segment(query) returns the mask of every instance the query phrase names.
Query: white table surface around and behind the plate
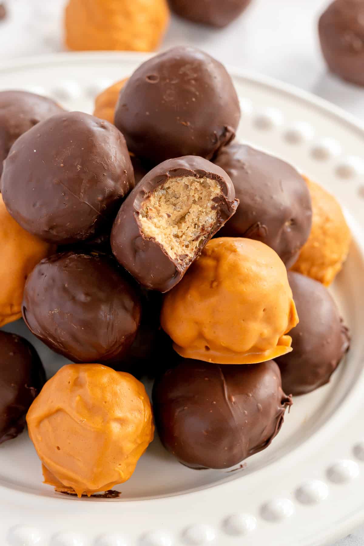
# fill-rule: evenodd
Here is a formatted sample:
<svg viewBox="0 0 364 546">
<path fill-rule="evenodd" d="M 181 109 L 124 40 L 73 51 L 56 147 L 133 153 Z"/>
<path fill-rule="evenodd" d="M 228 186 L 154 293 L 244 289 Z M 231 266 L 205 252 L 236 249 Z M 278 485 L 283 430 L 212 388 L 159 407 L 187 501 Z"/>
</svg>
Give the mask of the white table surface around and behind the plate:
<svg viewBox="0 0 364 546">
<path fill-rule="evenodd" d="M 321 58 L 317 20 L 327 3 L 328 0 L 252 0 L 243 15 L 222 30 L 172 17 L 161 49 L 195 45 L 225 64 L 273 76 L 316 93 L 364 122 L 364 88 L 345 84 L 327 73 Z M 65 0 L 5 0 L 5 4 L 8 16 L 0 21 L 0 63 L 64 50 Z M 363 544 L 364 527 L 335 546 Z"/>
</svg>

